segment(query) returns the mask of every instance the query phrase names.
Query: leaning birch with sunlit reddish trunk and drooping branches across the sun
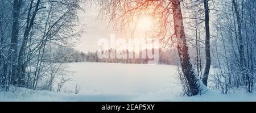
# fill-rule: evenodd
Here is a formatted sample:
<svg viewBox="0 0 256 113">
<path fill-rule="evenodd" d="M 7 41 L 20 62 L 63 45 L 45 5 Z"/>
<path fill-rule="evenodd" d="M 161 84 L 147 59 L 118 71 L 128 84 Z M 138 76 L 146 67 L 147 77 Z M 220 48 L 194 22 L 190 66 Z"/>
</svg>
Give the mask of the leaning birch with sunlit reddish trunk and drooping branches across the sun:
<svg viewBox="0 0 256 113">
<path fill-rule="evenodd" d="M 150 15 L 158 23 L 158 30 L 152 32 L 158 40 L 168 42 L 176 40 L 176 47 L 180 58 L 181 70 L 189 86 L 189 95 L 197 95 L 204 87 L 195 73 L 188 54 L 188 45 L 183 26 L 183 16 L 179 0 L 172 1 L 98 1 L 102 15 L 109 15 L 112 22 L 117 23 L 118 29 L 131 25 L 144 15 Z M 171 16 L 172 15 L 172 16 Z M 173 20 L 173 21 L 172 21 Z M 172 23 L 173 22 L 173 23 Z M 171 33 L 174 28 L 174 34 Z M 176 37 L 176 38 L 174 38 Z"/>
</svg>

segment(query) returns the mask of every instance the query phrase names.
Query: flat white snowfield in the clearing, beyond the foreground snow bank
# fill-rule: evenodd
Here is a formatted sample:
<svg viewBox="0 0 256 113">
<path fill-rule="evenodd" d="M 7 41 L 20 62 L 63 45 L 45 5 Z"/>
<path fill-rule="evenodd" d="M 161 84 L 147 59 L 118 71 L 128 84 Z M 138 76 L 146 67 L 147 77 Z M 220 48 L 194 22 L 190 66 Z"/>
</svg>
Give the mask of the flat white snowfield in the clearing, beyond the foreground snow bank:
<svg viewBox="0 0 256 113">
<path fill-rule="evenodd" d="M 79 95 L 127 95 L 127 99 L 142 96 L 143 101 L 150 101 L 181 93 L 177 66 L 97 62 L 69 63 L 68 66 L 68 70 L 74 72 L 73 81 L 67 82 L 63 90 L 74 91 L 78 86 Z"/>
</svg>

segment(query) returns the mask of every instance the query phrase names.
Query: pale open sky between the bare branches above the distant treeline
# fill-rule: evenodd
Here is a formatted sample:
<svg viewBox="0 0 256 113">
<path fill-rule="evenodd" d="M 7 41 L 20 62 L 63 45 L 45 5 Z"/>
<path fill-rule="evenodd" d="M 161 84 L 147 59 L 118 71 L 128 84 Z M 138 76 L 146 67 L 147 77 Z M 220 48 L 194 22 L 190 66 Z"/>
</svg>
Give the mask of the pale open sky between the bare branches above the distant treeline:
<svg viewBox="0 0 256 113">
<path fill-rule="evenodd" d="M 85 32 L 81 34 L 80 41 L 77 43 L 75 47 L 75 49 L 77 49 L 78 51 L 87 53 L 88 51 L 96 52 L 97 50 L 100 50 L 103 47 L 98 45 L 98 42 L 101 41 L 101 39 L 106 39 L 109 42 L 108 47 L 104 48 L 104 46 L 104 49 L 109 49 L 109 47 L 119 50 L 139 50 L 145 48 L 152 48 L 151 45 L 148 43 L 147 45 L 145 45 L 146 42 L 144 41 L 145 39 L 150 39 L 148 41 L 151 41 L 151 38 L 149 38 L 148 33 L 150 33 L 150 31 L 153 30 L 152 25 L 154 24 L 155 21 L 152 20 L 150 16 L 144 15 L 142 16 L 142 18 L 134 20 L 134 22 L 136 22 L 137 24 L 137 27 L 134 31 L 133 39 L 131 39 L 131 29 L 133 30 L 134 27 L 125 26 L 125 31 L 116 31 L 114 29 L 114 23 L 109 23 L 110 21 L 107 17 L 97 18 L 98 11 L 96 9 L 96 6 L 85 6 L 84 8 L 84 11 L 80 11 L 78 14 L 80 24 L 86 26 L 84 28 Z M 115 35 L 114 47 L 112 47 L 113 41 L 110 39 L 110 37 L 113 34 Z M 125 43 L 118 43 L 120 41 L 119 39 L 125 40 L 129 43 L 126 43 L 127 46 L 125 45 Z"/>
</svg>

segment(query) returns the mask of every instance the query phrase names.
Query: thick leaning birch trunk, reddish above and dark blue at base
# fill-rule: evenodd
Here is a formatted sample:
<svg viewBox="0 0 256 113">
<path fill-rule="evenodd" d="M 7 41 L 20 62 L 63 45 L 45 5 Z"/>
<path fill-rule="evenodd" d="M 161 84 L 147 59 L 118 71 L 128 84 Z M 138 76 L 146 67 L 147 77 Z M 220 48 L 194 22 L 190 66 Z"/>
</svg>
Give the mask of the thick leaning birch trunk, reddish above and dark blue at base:
<svg viewBox="0 0 256 113">
<path fill-rule="evenodd" d="M 183 26 L 183 18 L 181 14 L 180 1 L 172 1 L 172 12 L 174 16 L 174 29 L 177 37 L 177 51 L 179 53 L 180 64 L 185 79 L 188 81 L 189 91 L 192 95 L 200 92 L 200 79 L 197 77 L 195 70 L 192 68 L 190 57 L 188 54 L 187 42 L 185 39 L 185 31 Z"/>
</svg>

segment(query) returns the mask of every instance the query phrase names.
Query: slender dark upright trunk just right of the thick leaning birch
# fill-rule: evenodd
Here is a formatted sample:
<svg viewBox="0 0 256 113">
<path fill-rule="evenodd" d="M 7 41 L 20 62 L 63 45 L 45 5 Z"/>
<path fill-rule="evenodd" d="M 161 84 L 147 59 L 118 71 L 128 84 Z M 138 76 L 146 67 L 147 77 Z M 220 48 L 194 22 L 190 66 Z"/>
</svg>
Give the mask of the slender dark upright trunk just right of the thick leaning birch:
<svg viewBox="0 0 256 113">
<path fill-rule="evenodd" d="M 209 71 L 210 71 L 210 28 L 209 28 L 209 7 L 208 0 L 204 0 L 205 13 L 205 68 L 202 81 L 207 86 Z"/>
</svg>

